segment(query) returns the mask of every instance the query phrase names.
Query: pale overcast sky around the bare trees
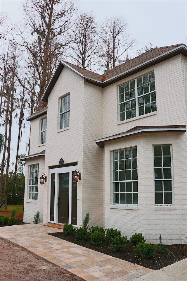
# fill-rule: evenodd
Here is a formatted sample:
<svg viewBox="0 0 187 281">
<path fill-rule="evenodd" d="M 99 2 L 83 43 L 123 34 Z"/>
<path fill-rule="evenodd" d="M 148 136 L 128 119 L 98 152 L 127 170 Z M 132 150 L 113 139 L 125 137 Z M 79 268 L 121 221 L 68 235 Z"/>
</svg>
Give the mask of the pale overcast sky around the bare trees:
<svg viewBox="0 0 187 281">
<path fill-rule="evenodd" d="M 22 20 L 22 0 L 1 0 L 1 13 L 8 13 L 13 23 Z M 136 39 L 136 49 L 145 45 L 147 41 L 153 46 L 162 47 L 184 43 L 187 45 L 187 1 L 108 1 L 81 0 L 76 1 L 79 10 L 93 11 L 98 22 L 104 21 L 106 16 L 124 16 L 128 23 L 128 33 Z M 130 54 L 130 53 L 129 53 Z M 28 126 L 29 128 L 29 126 Z M 23 130 L 23 137 L 19 153 L 26 153 L 25 141 L 29 139 L 29 129 Z M 11 148 L 16 150 L 16 126 L 11 141 Z M 11 151 L 11 162 L 15 161 L 15 153 Z"/>
</svg>

